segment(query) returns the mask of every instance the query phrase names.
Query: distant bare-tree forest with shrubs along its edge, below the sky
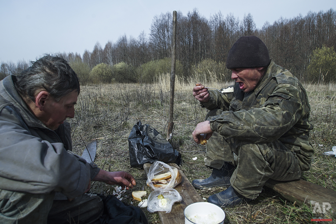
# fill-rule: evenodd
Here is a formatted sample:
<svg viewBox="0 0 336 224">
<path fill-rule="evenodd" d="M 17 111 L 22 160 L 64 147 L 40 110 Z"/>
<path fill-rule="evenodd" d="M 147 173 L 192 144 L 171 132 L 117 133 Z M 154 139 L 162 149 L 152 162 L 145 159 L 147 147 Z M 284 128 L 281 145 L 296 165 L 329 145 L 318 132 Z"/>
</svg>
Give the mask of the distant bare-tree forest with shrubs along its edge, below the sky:
<svg viewBox="0 0 336 224">
<path fill-rule="evenodd" d="M 194 9 L 177 12 L 176 75 L 187 79 L 195 73 L 229 79 L 225 61 L 230 47 L 241 36 L 259 37 L 276 64 L 289 69 L 303 81 L 336 81 L 336 12 L 334 9 L 308 12 L 294 18 L 280 17 L 257 29 L 252 15 L 240 20 L 234 14 L 218 12 L 209 19 Z M 172 13 L 154 16 L 150 34 L 137 38 L 120 36 L 92 51 L 58 53 L 74 68 L 81 83 L 152 82 L 170 72 Z M 0 78 L 16 74 L 30 62 L 2 62 Z"/>
</svg>

